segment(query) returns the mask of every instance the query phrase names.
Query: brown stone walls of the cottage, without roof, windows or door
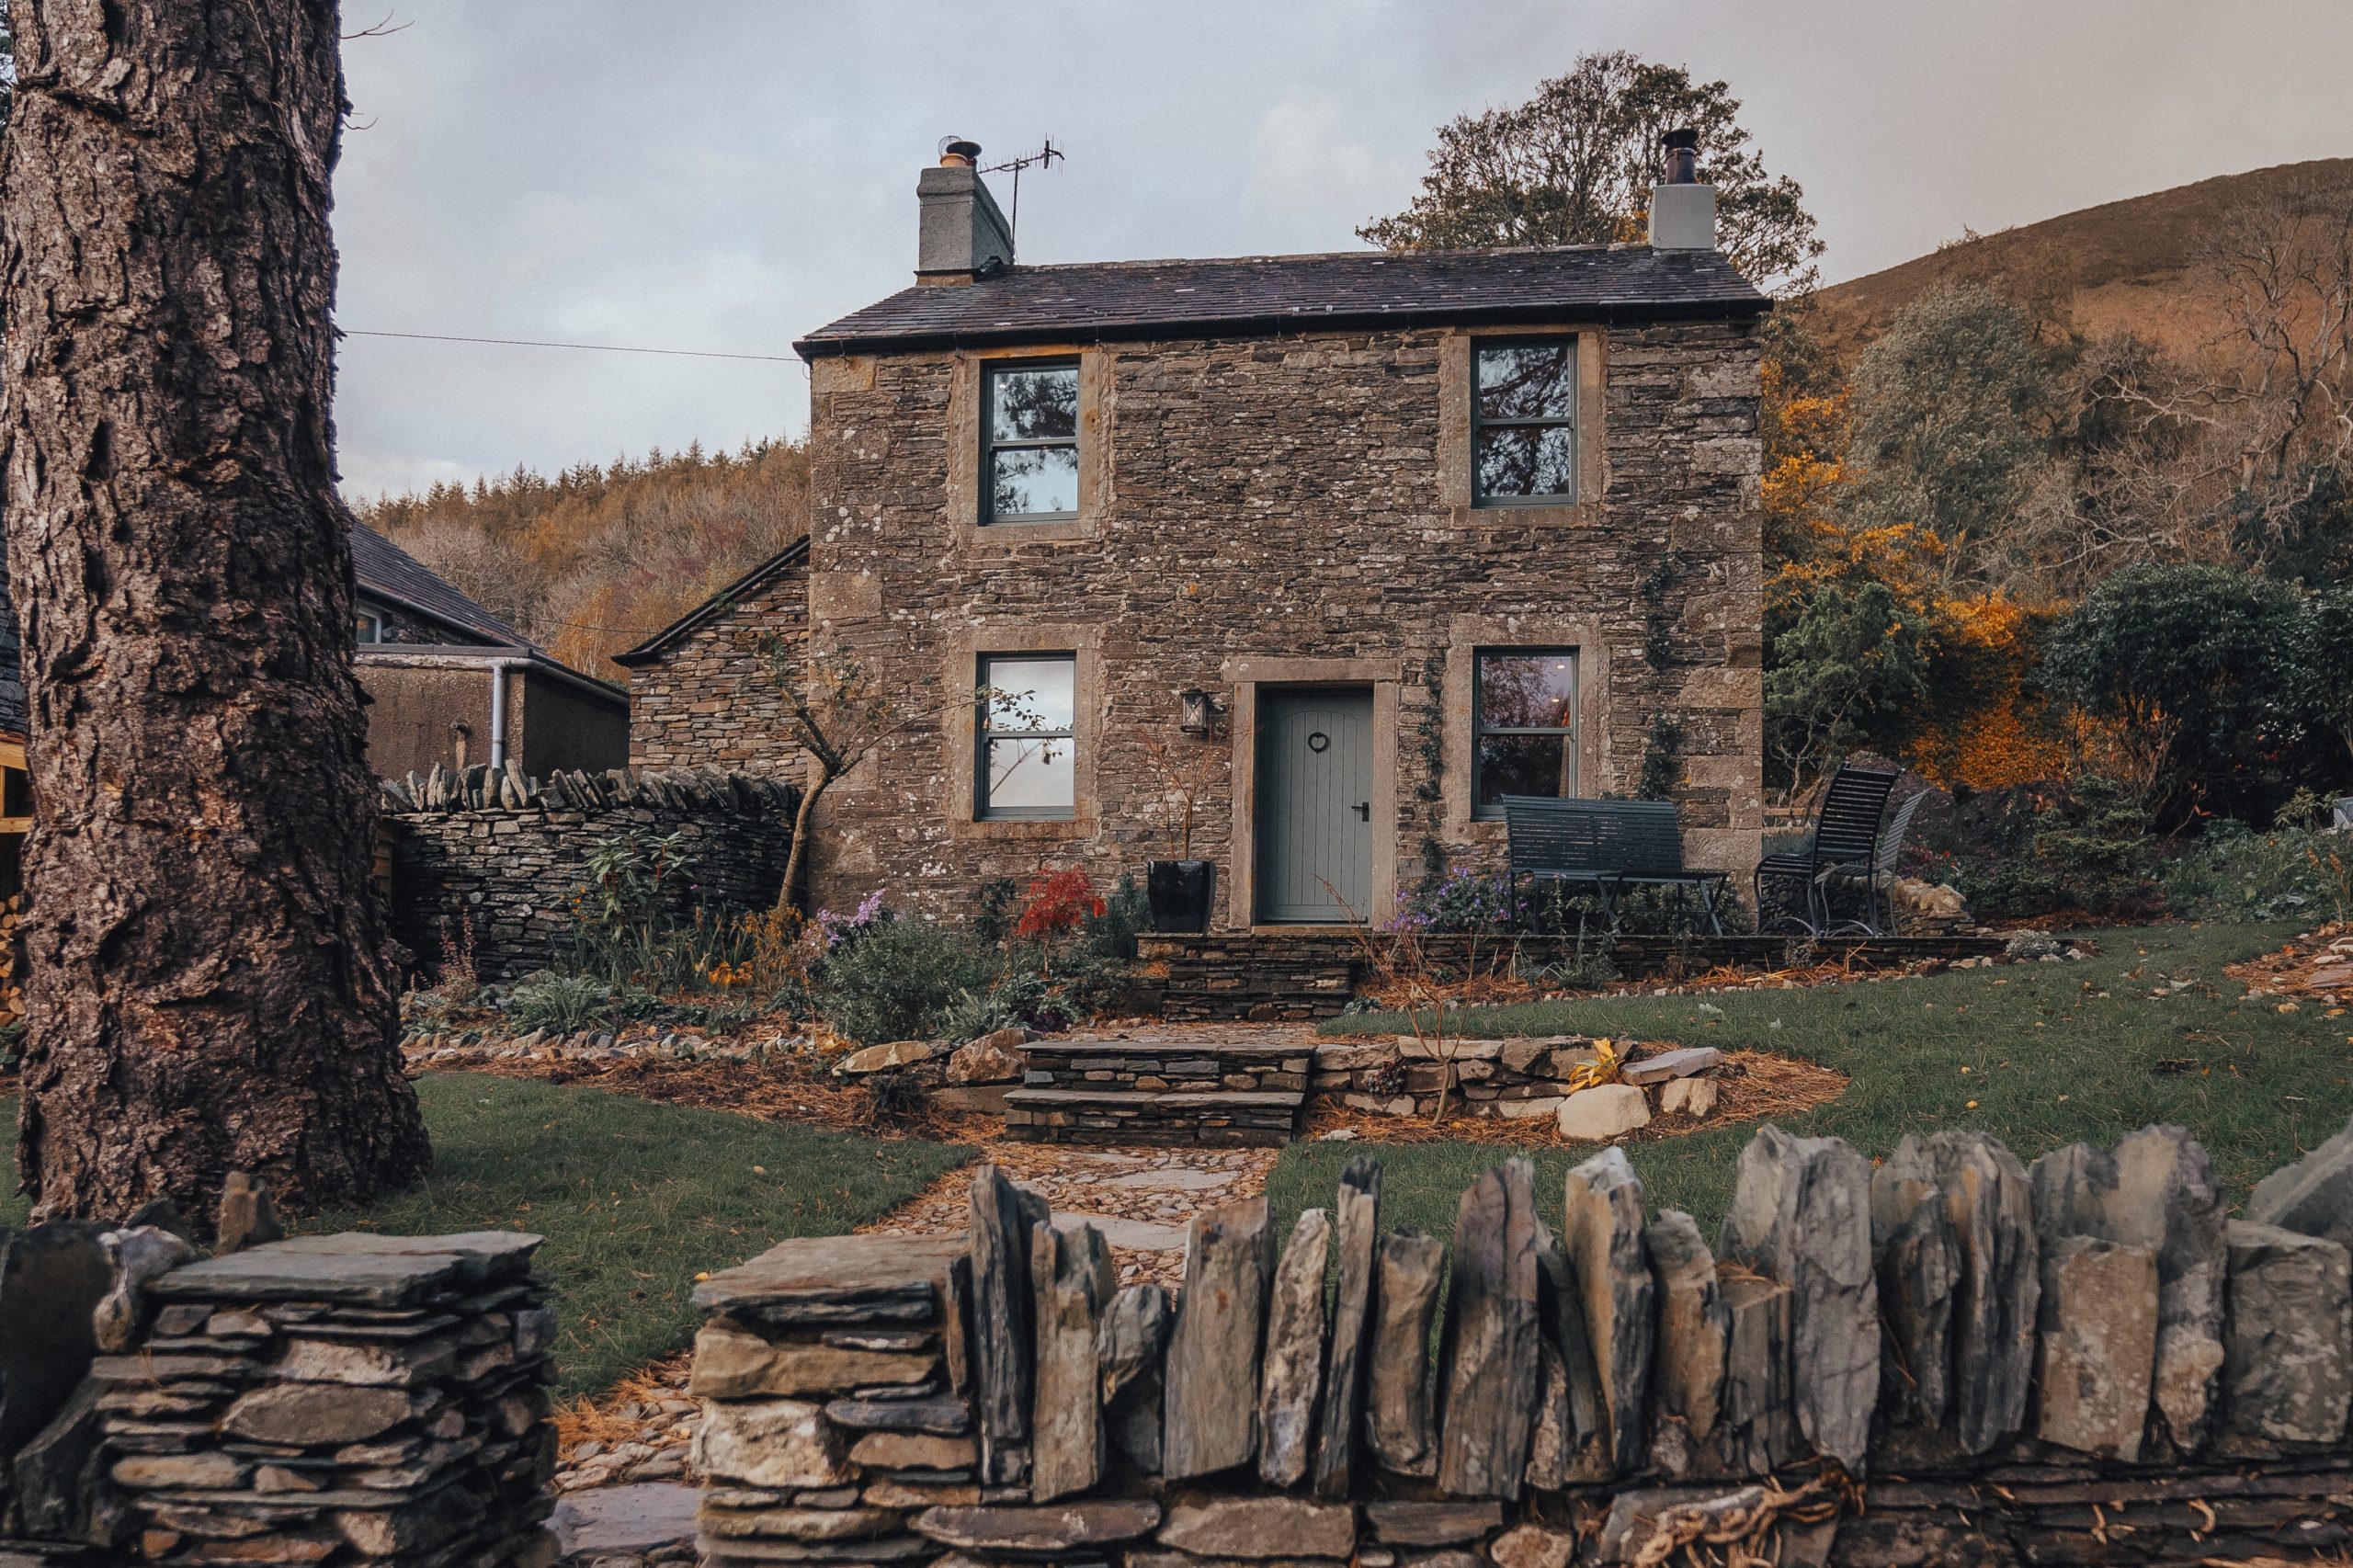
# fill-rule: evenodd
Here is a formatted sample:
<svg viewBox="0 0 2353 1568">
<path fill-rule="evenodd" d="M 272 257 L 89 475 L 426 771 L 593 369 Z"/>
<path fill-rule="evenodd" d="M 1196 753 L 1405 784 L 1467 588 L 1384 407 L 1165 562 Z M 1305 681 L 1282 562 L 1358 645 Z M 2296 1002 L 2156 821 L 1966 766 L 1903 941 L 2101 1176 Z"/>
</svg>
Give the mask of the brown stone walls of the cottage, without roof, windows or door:
<svg viewBox="0 0 2353 1568">
<path fill-rule="evenodd" d="M 1471 812 L 1475 650 L 1574 647 L 1581 793 L 1631 793 L 1675 732 L 1687 857 L 1746 873 L 1762 824 L 1758 339 L 1748 318 L 1574 332 L 1588 377 L 1574 506 L 1468 504 L 1452 327 L 812 363 L 807 596 L 788 577 L 638 659 L 635 756 L 798 765 L 748 638 L 969 690 L 981 655 L 1075 652 L 1068 819 L 976 819 L 972 713 L 915 723 L 819 805 L 812 890 L 969 913 L 995 878 L 1099 883 L 1169 855 L 1144 737 L 1212 746 L 1193 855 L 1252 925 L 1254 723 L 1280 685 L 1374 697 L 1372 909 L 1426 866 L 1499 864 Z M 1080 516 L 976 525 L 981 365 L 1080 360 Z M 1179 692 L 1212 692 L 1209 742 Z M 1741 876 L 1739 881 L 1746 881 Z"/>
</svg>

